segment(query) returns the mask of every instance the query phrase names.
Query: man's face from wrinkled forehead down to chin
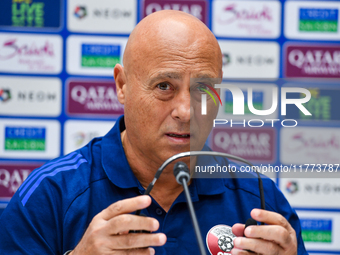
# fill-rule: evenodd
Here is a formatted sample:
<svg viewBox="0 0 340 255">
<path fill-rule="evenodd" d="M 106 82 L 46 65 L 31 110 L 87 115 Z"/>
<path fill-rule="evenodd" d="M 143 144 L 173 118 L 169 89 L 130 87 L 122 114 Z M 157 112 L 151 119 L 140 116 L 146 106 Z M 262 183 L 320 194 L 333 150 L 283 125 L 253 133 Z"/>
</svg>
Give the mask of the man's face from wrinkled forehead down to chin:
<svg viewBox="0 0 340 255">
<path fill-rule="evenodd" d="M 221 77 L 221 60 L 207 40 L 177 37 L 150 45 L 126 74 L 125 123 L 134 149 L 162 164 L 174 154 L 202 149 L 218 108 L 201 115 L 197 83 Z M 138 65 L 137 65 L 138 63 Z M 210 110 L 210 112 L 209 112 Z"/>
</svg>

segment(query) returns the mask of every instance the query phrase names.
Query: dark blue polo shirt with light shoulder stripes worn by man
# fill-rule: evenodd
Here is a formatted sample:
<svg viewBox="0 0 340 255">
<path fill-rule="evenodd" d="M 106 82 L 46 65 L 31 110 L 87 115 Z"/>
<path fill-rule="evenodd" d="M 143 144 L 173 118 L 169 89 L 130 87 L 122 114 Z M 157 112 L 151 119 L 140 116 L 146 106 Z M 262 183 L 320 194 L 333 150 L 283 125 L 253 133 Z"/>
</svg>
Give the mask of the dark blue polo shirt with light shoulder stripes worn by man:
<svg viewBox="0 0 340 255">
<path fill-rule="evenodd" d="M 122 147 L 124 129 L 120 117 L 104 137 L 30 174 L 1 215 L 0 254 L 63 254 L 74 249 L 96 214 L 118 200 L 144 193 Z M 298 254 L 307 254 L 295 211 L 270 179 L 264 178 L 263 184 L 266 209 L 290 222 Z M 203 240 L 212 227 L 245 223 L 250 211 L 260 207 L 256 178 L 193 179 L 189 190 Z M 200 254 L 183 193 L 167 213 L 155 200 L 142 212 L 156 218 L 158 232 L 167 236 L 164 246 L 155 247 L 157 255 Z"/>
</svg>

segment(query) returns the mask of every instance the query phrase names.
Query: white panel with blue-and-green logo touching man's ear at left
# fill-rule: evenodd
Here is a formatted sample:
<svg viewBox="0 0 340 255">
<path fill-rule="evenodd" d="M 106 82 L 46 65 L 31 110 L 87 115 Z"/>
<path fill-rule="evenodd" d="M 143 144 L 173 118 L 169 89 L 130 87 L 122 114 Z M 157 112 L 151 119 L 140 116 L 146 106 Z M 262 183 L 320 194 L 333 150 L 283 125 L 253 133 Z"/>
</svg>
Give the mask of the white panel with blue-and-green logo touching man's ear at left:
<svg viewBox="0 0 340 255">
<path fill-rule="evenodd" d="M 126 37 L 74 36 L 67 39 L 67 72 L 76 75 L 110 76 L 122 63 Z"/>
</svg>

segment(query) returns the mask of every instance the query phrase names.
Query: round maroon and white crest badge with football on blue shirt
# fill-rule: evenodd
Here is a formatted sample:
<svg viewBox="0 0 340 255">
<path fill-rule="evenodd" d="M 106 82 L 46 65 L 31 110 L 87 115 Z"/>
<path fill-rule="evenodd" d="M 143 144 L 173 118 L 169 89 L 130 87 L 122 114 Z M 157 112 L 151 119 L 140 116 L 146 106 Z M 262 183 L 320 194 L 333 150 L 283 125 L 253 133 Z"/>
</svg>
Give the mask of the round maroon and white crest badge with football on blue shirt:
<svg viewBox="0 0 340 255">
<path fill-rule="evenodd" d="M 216 225 L 207 233 L 206 243 L 211 255 L 227 255 L 234 248 L 236 236 L 227 225 Z"/>
</svg>

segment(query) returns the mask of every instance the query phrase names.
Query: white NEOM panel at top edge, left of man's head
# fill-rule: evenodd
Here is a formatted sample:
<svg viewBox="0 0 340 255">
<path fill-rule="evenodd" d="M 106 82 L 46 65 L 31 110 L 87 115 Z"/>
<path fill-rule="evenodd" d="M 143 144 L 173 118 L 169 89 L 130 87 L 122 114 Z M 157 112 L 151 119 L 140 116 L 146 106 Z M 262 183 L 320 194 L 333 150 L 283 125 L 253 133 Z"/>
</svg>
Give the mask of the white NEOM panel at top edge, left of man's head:
<svg viewBox="0 0 340 255">
<path fill-rule="evenodd" d="M 130 34 L 137 24 L 137 0 L 68 0 L 72 32 Z"/>
</svg>

